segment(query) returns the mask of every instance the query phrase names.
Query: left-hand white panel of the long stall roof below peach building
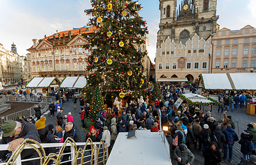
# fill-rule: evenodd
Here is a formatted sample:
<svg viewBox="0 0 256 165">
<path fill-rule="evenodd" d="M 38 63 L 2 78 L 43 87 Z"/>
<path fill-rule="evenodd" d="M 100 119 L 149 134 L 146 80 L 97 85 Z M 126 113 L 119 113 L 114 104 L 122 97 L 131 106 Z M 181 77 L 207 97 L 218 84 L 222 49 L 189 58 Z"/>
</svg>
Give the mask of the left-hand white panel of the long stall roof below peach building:
<svg viewBox="0 0 256 165">
<path fill-rule="evenodd" d="M 202 74 L 205 89 L 232 89 L 226 74 Z"/>
</svg>

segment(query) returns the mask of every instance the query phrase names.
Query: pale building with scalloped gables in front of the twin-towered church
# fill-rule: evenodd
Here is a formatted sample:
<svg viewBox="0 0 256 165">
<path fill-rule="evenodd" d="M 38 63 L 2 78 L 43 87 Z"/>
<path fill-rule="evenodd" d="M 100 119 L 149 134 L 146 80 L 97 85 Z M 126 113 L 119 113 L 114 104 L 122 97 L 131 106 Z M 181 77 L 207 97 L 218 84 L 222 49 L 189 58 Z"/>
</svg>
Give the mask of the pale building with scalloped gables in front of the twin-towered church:
<svg viewBox="0 0 256 165">
<path fill-rule="evenodd" d="M 167 39 L 156 50 L 156 80 L 171 82 L 186 78 L 194 82 L 200 74 L 209 73 L 211 51 L 211 41 L 200 39 L 198 35 L 185 45 Z"/>
</svg>

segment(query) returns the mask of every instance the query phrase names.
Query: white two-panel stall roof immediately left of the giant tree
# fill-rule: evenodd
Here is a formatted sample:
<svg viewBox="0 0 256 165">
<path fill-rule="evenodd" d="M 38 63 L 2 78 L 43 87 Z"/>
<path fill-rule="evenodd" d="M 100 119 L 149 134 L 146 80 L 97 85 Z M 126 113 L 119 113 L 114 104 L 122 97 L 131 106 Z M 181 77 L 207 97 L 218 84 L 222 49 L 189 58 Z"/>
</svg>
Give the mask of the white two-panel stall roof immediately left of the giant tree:
<svg viewBox="0 0 256 165">
<path fill-rule="evenodd" d="M 84 76 L 80 77 L 66 77 L 61 83 L 62 88 L 83 88 L 87 84 Z"/>
</svg>

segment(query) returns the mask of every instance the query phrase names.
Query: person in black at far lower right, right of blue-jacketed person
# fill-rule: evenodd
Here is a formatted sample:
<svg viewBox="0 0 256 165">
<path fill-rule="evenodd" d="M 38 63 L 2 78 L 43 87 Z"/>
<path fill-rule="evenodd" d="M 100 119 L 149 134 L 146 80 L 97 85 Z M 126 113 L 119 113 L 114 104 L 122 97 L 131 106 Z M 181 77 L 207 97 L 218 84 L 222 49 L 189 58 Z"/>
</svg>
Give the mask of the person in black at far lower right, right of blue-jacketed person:
<svg viewBox="0 0 256 165">
<path fill-rule="evenodd" d="M 243 153 L 244 159 L 249 159 L 250 155 L 252 155 L 252 151 L 249 150 L 249 144 L 253 140 L 253 135 L 250 135 L 250 132 L 244 130 L 241 133 L 241 139 L 238 141 L 241 144 L 241 152 Z"/>
</svg>

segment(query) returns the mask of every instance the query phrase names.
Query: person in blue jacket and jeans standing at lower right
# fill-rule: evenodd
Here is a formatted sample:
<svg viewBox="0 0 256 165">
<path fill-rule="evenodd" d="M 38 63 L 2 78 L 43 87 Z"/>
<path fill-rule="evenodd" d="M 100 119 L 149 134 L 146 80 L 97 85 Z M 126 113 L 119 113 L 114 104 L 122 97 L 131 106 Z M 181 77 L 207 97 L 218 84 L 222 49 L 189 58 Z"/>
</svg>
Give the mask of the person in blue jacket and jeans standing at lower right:
<svg viewBox="0 0 256 165">
<path fill-rule="evenodd" d="M 238 141 L 238 136 L 237 133 L 235 133 L 235 130 L 231 128 L 231 124 L 227 124 L 227 126 L 227 129 L 222 130 L 222 133 L 226 137 L 226 142 L 224 142 L 224 156 L 222 158 L 225 161 L 229 158 L 229 161 L 233 162 L 233 145 L 234 142 Z"/>
</svg>

